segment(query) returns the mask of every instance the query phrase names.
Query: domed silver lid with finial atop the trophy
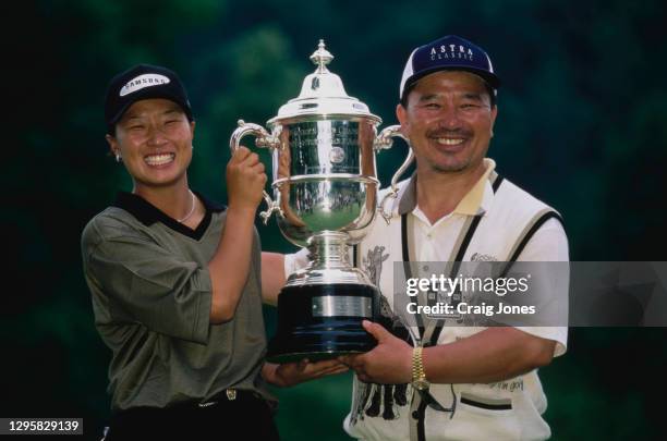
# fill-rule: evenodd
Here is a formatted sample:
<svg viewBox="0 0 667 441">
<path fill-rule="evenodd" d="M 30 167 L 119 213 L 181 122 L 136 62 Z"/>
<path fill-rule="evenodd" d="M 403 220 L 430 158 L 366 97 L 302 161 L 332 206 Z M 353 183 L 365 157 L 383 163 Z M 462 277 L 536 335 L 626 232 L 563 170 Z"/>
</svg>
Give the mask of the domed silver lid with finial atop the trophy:
<svg viewBox="0 0 667 441">
<path fill-rule="evenodd" d="M 272 125 L 281 120 L 295 117 L 365 117 L 381 122 L 379 117 L 368 111 L 368 106 L 354 97 L 348 96 L 340 77 L 327 69 L 333 56 L 325 49 L 324 40 L 311 56 L 317 69 L 307 75 L 301 86 L 301 94 L 280 107 L 278 115 L 268 121 Z"/>
</svg>

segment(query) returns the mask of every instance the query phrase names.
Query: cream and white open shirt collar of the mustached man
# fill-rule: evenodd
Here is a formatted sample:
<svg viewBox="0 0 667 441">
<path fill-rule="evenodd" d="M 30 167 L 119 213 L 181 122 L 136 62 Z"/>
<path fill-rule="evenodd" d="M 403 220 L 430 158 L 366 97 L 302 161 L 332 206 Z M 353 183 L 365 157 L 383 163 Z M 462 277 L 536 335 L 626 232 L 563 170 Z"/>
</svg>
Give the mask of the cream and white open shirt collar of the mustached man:
<svg viewBox="0 0 667 441">
<path fill-rule="evenodd" d="M 488 209 L 494 191 L 492 187 L 492 180 L 497 174 L 494 172 L 496 169 L 496 162 L 490 158 L 484 158 L 484 174 L 475 183 L 475 185 L 463 196 L 457 208 L 453 209 L 453 213 L 463 216 L 475 216 L 486 212 Z M 405 186 L 402 195 L 398 203 L 398 213 L 400 216 L 412 212 L 416 207 L 416 173 L 414 173 L 408 185 Z"/>
</svg>

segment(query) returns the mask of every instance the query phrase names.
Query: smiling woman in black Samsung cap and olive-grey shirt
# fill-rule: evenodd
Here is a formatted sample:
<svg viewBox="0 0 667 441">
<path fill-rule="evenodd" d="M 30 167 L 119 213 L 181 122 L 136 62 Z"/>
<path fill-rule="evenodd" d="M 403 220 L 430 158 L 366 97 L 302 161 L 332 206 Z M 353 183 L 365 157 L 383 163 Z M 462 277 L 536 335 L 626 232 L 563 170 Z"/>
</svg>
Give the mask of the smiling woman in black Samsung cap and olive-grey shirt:
<svg viewBox="0 0 667 441">
<path fill-rule="evenodd" d="M 191 191 L 193 112 L 161 66 L 114 76 L 105 115 L 133 183 L 82 236 L 95 322 L 113 352 L 107 439 L 278 439 L 265 380 L 290 385 L 342 369 L 264 363 L 254 229 L 264 166 L 246 148 L 232 156 L 227 209 Z"/>
</svg>

